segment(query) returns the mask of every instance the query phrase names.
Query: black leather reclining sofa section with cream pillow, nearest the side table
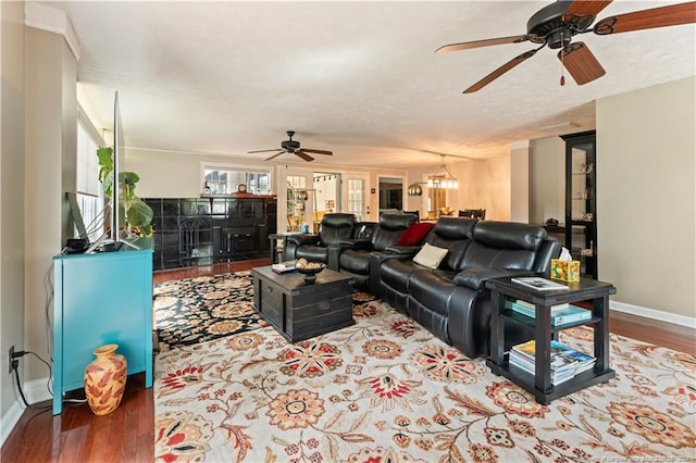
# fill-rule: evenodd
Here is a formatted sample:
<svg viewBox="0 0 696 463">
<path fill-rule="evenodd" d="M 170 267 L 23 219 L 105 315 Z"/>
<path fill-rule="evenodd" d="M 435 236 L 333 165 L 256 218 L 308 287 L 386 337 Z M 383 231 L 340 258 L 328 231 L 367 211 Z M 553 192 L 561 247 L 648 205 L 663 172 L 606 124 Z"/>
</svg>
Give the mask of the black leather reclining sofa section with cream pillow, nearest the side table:
<svg viewBox="0 0 696 463">
<path fill-rule="evenodd" d="M 485 281 L 546 273 L 560 243 L 540 226 L 440 217 L 424 242 L 447 249 L 437 268 L 413 262 L 403 249 L 387 249 L 380 265 L 380 296 L 470 358 L 489 352 L 490 293 Z M 529 339 L 506 326 L 506 342 Z"/>
</svg>

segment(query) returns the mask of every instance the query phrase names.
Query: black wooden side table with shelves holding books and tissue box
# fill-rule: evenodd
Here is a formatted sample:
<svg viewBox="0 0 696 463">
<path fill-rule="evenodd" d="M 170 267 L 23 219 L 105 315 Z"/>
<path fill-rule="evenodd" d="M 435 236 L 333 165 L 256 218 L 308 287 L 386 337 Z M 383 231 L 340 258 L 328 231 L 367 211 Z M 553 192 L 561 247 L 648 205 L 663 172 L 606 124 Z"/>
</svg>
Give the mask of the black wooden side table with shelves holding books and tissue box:
<svg viewBox="0 0 696 463">
<path fill-rule="evenodd" d="M 535 290 L 511 281 L 510 277 L 494 278 L 486 281 L 490 289 L 490 358 L 486 364 L 495 374 L 507 377 L 520 387 L 531 392 L 537 402 L 548 404 L 552 400 L 576 392 L 589 386 L 606 383 L 616 373 L 609 365 L 609 296 L 617 292 L 610 283 L 583 278 L 581 281 L 568 284 L 568 289 Z M 535 318 L 506 309 L 508 299 L 521 299 L 531 302 L 536 308 Z M 589 320 L 551 326 L 550 308 L 564 302 L 588 301 L 593 316 Z M 530 326 L 534 329 L 536 343 L 534 368 L 531 375 L 510 365 L 505 352 L 506 321 Z M 580 373 L 572 379 L 560 385 L 551 385 L 550 342 L 563 329 L 579 325 L 592 325 L 594 331 L 594 353 L 597 359 L 593 370 Z"/>
</svg>

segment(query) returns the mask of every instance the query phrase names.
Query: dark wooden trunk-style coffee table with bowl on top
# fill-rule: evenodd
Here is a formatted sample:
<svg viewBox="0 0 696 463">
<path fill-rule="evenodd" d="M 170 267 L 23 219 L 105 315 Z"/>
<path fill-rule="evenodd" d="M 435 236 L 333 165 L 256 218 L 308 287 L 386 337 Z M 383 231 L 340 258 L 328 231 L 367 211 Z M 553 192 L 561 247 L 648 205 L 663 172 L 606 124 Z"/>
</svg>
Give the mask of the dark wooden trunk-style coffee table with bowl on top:
<svg viewBox="0 0 696 463">
<path fill-rule="evenodd" d="M 290 342 L 356 323 L 350 276 L 324 268 L 307 283 L 296 271 L 276 274 L 270 265 L 252 268 L 251 276 L 253 308 Z"/>
</svg>

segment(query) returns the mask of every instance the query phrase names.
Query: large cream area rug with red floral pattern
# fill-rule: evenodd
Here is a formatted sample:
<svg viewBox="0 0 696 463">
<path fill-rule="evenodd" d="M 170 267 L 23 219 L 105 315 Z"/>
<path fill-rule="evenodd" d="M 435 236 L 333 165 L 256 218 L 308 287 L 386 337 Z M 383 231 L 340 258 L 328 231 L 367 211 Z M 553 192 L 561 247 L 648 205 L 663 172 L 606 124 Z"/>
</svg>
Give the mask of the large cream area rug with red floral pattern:
<svg viewBox="0 0 696 463">
<path fill-rule="evenodd" d="M 365 298 L 369 299 L 369 298 Z M 540 405 L 372 300 L 288 343 L 271 326 L 161 352 L 157 461 L 693 461 L 696 359 L 611 336 L 607 384 Z M 592 330 L 561 340 L 592 352 Z"/>
</svg>

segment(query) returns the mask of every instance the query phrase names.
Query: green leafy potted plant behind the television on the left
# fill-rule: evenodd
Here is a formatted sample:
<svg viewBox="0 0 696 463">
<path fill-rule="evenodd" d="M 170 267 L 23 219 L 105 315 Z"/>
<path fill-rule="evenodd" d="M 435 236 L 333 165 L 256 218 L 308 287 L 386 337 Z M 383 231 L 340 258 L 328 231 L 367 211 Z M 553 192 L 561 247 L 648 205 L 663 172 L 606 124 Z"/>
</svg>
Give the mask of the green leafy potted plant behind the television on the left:
<svg viewBox="0 0 696 463">
<path fill-rule="evenodd" d="M 99 148 L 99 182 L 108 197 L 113 195 L 113 149 Z M 126 238 L 151 237 L 154 234 L 152 217 L 154 213 L 145 201 L 135 193 L 135 185 L 140 177 L 135 172 L 119 173 L 119 223 L 124 224 L 119 232 Z"/>
</svg>

